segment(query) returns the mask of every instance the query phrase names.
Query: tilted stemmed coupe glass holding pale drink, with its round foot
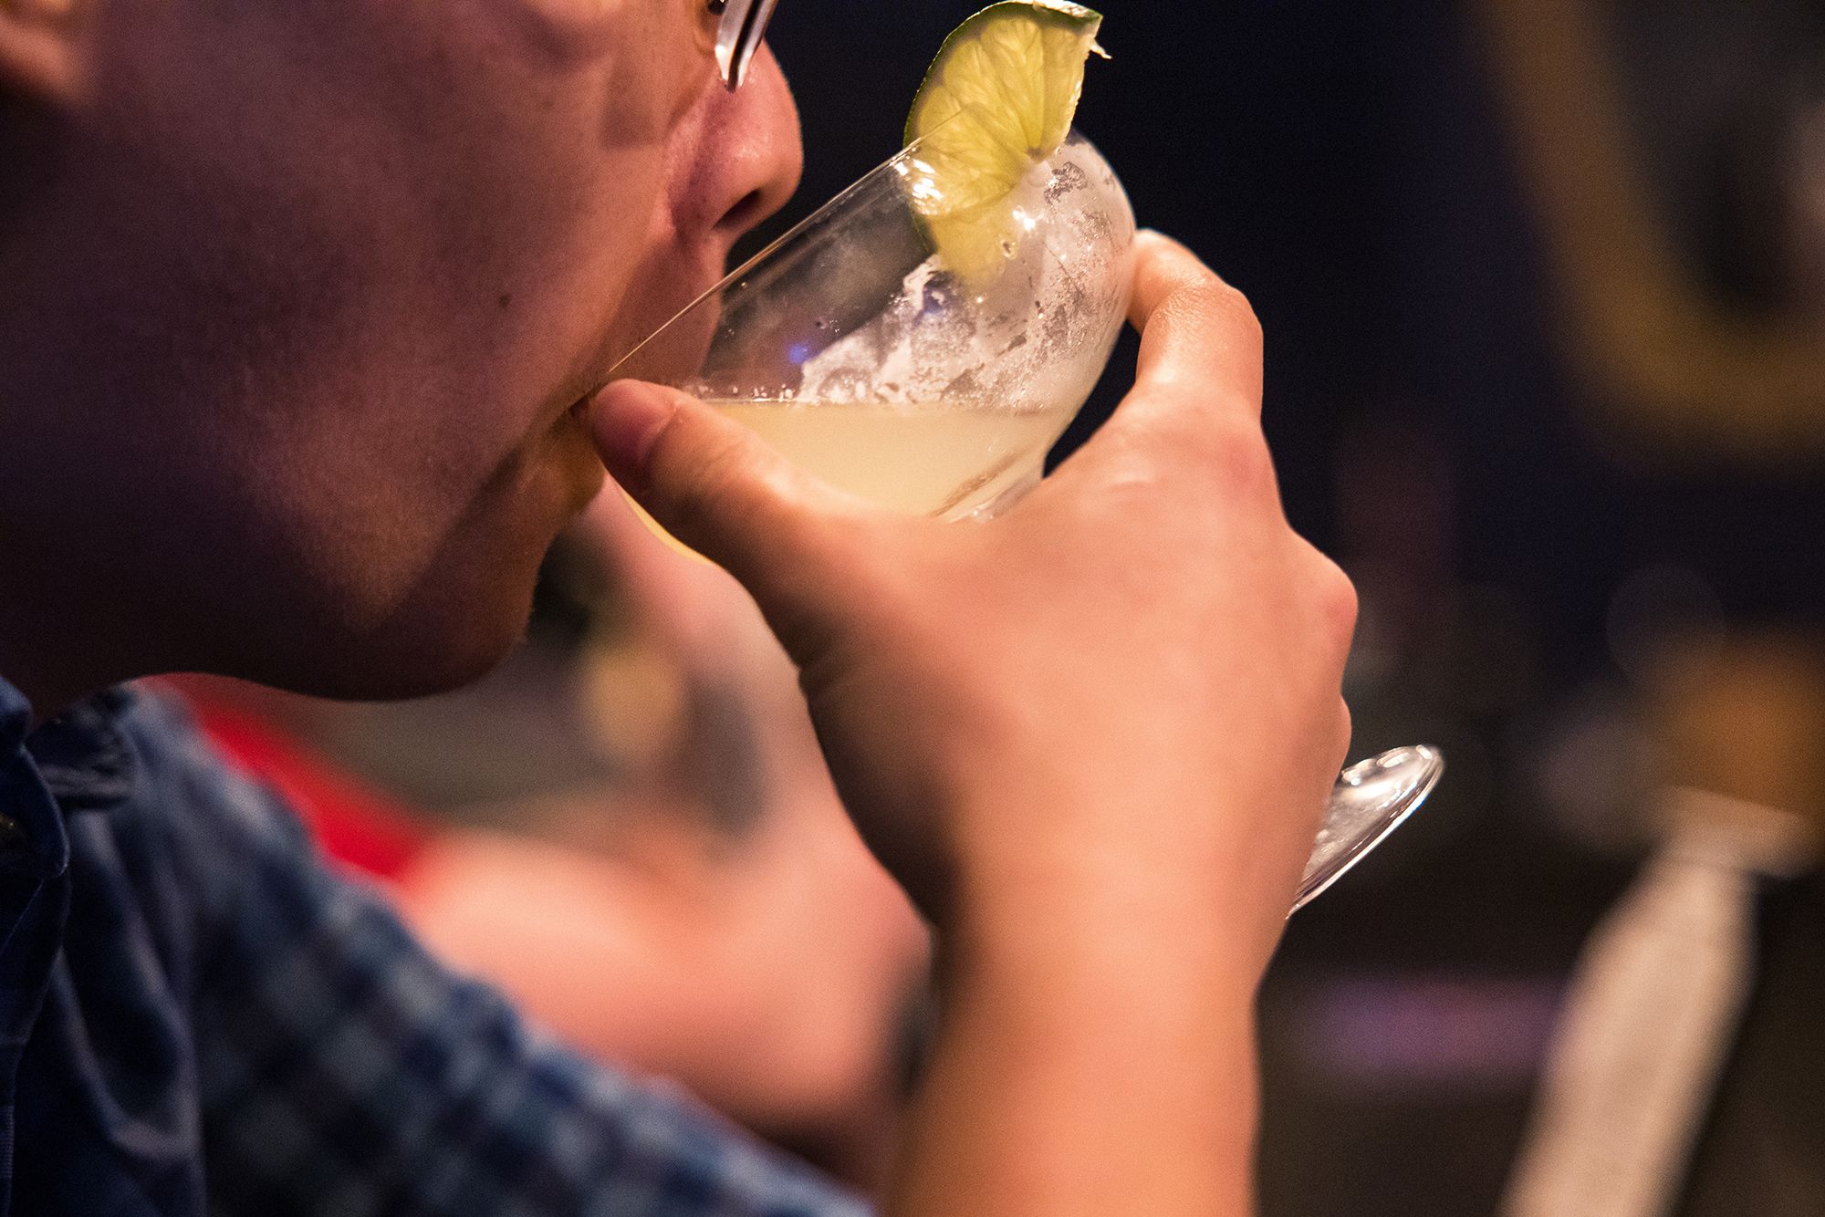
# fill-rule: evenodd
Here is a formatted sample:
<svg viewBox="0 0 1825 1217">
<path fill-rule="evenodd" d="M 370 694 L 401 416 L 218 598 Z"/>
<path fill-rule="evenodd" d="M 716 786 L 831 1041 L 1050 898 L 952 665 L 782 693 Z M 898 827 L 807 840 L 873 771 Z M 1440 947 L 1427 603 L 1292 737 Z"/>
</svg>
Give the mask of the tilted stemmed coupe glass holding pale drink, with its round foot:
<svg viewBox="0 0 1825 1217">
<path fill-rule="evenodd" d="M 1015 188 L 987 241 L 978 228 L 947 243 L 967 250 L 967 266 L 934 252 L 942 204 L 920 146 L 905 148 L 611 376 L 683 389 L 885 507 L 995 515 L 1040 480 L 1108 363 L 1128 314 L 1135 221 L 1115 172 L 1077 131 Z M 1433 748 L 1345 770 L 1294 909 L 1400 825 L 1440 770 Z"/>
</svg>

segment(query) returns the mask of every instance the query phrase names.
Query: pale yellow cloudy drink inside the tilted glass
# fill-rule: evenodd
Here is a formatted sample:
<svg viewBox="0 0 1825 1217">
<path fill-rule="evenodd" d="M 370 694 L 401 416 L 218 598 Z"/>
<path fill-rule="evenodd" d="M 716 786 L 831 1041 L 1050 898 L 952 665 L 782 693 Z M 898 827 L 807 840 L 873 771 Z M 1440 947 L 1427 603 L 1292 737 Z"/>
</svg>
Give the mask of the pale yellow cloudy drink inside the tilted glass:
<svg viewBox="0 0 1825 1217">
<path fill-rule="evenodd" d="M 706 401 L 787 460 L 881 507 L 967 515 L 1038 474 L 1075 405 L 1038 411 L 980 401 Z"/>
</svg>

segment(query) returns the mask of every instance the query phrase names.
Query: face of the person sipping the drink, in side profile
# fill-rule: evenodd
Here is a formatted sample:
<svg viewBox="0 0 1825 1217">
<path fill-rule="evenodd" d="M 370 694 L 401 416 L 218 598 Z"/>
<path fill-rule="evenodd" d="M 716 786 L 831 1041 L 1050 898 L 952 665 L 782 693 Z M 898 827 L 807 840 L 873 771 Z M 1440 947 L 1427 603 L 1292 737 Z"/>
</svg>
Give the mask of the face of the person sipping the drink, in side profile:
<svg viewBox="0 0 1825 1217">
<path fill-rule="evenodd" d="M 726 93 L 703 0 L 75 4 L 29 502 L 159 662 L 478 673 L 600 484 L 582 396 L 796 184 L 772 58 Z"/>
</svg>

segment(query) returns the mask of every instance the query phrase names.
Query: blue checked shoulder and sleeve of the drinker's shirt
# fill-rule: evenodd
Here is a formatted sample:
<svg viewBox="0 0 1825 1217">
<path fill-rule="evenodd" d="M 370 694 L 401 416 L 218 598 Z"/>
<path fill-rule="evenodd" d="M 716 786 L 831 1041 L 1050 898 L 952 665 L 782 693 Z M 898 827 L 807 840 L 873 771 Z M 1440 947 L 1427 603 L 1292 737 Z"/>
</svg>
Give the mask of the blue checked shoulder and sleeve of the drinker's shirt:
<svg viewBox="0 0 1825 1217">
<path fill-rule="evenodd" d="M 224 1210 L 354 1197 L 451 1217 L 865 1217 L 688 1097 L 580 1058 L 449 973 L 376 892 L 323 867 L 182 702 L 135 692 L 119 732 L 137 775 L 110 816 L 117 841 L 151 841 L 193 916 L 201 1131 Z"/>
</svg>

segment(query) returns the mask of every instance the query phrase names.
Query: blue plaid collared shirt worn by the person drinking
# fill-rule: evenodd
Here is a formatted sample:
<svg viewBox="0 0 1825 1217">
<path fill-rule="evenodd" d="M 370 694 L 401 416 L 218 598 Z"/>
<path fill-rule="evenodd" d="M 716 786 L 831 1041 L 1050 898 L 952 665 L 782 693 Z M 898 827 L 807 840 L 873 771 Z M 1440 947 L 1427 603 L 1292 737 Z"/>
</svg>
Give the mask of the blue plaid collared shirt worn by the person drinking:
<svg viewBox="0 0 1825 1217">
<path fill-rule="evenodd" d="M 0 681 L 0 1217 L 865 1212 L 447 973 L 161 699 L 27 726 Z"/>
</svg>

